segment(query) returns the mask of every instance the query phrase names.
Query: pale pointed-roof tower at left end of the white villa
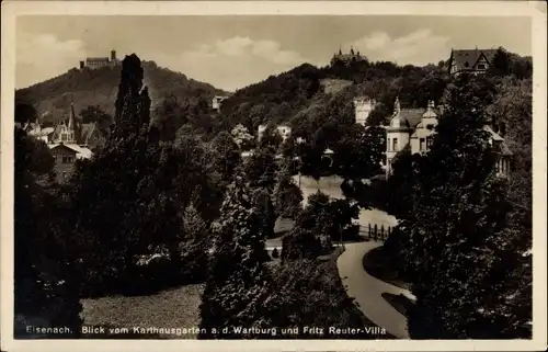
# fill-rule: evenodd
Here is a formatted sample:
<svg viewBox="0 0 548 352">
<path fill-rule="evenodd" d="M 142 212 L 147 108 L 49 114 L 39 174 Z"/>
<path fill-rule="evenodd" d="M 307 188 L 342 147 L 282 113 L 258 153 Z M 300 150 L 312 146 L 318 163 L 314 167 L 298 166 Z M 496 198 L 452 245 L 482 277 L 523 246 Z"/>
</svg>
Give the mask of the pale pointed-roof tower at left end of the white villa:
<svg viewBox="0 0 548 352">
<path fill-rule="evenodd" d="M 392 159 L 409 145 L 411 134 L 409 121 L 401 114 L 400 100 L 396 98 L 390 126 L 386 128 L 386 175 L 391 173 Z"/>
</svg>

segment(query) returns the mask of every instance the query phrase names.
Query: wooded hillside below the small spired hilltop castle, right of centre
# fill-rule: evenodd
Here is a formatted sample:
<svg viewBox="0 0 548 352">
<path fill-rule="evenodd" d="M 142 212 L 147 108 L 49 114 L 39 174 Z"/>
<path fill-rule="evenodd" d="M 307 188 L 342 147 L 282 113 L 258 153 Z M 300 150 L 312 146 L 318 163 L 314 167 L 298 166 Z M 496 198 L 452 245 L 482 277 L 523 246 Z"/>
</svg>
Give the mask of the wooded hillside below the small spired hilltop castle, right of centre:
<svg viewBox="0 0 548 352">
<path fill-rule="evenodd" d="M 499 52 L 501 55 L 492 73 L 511 71 L 520 79 L 530 78 L 530 57 L 520 57 L 503 48 Z M 353 84 L 341 84 L 339 92 L 326 93 L 322 81 L 328 79 L 347 80 Z M 368 60 L 323 68 L 304 64 L 238 90 L 224 102 L 222 121 L 226 129 L 242 124 L 255 132 L 260 124 L 288 123 L 319 101 L 327 105 L 331 99 L 336 99 L 351 106 L 353 98 L 367 95 L 379 102 L 370 117 L 373 124 L 378 124 L 391 113 L 396 95 L 402 107 L 425 107 L 429 100 L 439 102 L 448 81 L 445 61 L 424 67 Z"/>
</svg>

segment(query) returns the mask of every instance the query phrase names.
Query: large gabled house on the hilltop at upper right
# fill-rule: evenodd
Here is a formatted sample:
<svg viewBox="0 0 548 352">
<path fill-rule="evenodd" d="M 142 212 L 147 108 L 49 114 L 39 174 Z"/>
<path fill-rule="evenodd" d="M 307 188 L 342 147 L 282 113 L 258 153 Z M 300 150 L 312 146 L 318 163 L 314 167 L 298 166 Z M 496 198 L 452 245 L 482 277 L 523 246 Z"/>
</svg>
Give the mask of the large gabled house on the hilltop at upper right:
<svg viewBox="0 0 548 352">
<path fill-rule="evenodd" d="M 449 56 L 449 75 L 469 72 L 486 73 L 493 61 L 496 49 L 452 49 Z"/>
</svg>

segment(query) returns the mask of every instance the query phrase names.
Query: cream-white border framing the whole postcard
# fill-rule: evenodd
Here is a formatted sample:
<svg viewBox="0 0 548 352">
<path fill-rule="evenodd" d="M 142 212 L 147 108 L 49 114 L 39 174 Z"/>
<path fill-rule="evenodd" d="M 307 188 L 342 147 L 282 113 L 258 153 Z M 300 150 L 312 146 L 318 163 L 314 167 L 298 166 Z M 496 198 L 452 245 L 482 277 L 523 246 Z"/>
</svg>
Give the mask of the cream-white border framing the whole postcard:
<svg viewBox="0 0 548 352">
<path fill-rule="evenodd" d="M 544 351 L 546 318 L 546 4 L 528 1 L 8 1 L 2 2 L 0 128 L 1 196 L 1 348 L 2 351 Z M 459 15 L 533 19 L 534 99 L 534 317 L 533 340 L 290 340 L 290 341 L 150 341 L 13 340 L 13 107 L 15 16 L 85 15 Z"/>
</svg>

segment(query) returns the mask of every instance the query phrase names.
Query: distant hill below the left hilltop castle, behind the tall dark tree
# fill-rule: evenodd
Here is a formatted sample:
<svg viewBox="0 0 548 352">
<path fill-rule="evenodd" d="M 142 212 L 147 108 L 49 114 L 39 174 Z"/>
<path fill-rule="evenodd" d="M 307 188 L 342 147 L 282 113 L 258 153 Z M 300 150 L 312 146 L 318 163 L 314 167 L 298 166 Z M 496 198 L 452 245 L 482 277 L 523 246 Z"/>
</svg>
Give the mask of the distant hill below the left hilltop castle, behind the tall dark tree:
<svg viewBox="0 0 548 352">
<path fill-rule="evenodd" d="M 71 69 L 58 77 L 15 91 L 15 103 L 34 105 L 45 124 L 55 124 L 67 118 L 70 103 L 75 104 L 77 114 L 85 106 L 99 106 L 112 116 L 121 69 L 121 66 L 95 70 Z M 164 96 L 172 95 L 190 105 L 208 106 L 214 95 L 227 93 L 212 84 L 190 79 L 181 72 L 161 68 L 153 61 L 144 61 L 142 69 L 152 106 Z M 32 111 L 23 116 L 24 120 L 34 120 Z"/>
</svg>

